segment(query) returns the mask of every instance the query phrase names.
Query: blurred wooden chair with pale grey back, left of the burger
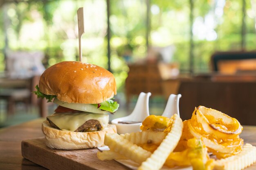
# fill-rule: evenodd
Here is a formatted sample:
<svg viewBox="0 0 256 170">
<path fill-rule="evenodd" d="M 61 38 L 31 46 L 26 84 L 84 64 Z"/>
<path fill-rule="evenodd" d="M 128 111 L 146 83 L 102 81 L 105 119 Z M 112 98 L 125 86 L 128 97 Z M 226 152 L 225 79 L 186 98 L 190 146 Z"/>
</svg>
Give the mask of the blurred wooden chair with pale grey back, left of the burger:
<svg viewBox="0 0 256 170">
<path fill-rule="evenodd" d="M 0 98 L 7 100 L 7 113 L 14 113 L 17 101 L 40 106 L 40 116 L 47 115 L 44 100 L 38 100 L 32 92 L 39 82 L 40 74 L 45 70 L 43 52 L 7 51 L 5 78 L 0 79 Z M 40 103 L 38 103 L 40 101 Z M 42 107 L 41 107 L 42 106 Z"/>
</svg>

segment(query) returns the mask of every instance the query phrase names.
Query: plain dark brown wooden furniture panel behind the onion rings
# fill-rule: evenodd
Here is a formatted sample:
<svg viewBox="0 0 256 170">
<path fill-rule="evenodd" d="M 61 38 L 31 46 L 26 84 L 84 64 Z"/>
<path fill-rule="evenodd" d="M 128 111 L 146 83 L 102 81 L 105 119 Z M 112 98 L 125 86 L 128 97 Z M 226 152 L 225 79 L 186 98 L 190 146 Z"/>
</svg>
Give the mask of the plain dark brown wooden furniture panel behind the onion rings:
<svg viewBox="0 0 256 170">
<path fill-rule="evenodd" d="M 191 118 L 195 107 L 205 106 L 256 126 L 256 82 L 194 80 L 180 84 L 180 115 Z"/>
</svg>

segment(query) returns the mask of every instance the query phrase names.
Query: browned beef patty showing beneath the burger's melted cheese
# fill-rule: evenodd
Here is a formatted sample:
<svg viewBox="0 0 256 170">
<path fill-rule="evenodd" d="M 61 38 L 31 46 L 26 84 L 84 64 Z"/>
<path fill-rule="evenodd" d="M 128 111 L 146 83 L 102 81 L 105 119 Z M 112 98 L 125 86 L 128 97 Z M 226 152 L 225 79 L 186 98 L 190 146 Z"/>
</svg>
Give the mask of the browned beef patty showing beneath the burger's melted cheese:
<svg viewBox="0 0 256 170">
<path fill-rule="evenodd" d="M 51 120 L 49 120 L 48 118 L 47 120 L 52 127 L 60 129 Z M 99 131 L 100 129 L 101 129 L 101 124 L 99 123 L 98 120 L 88 120 L 84 124 L 79 126 L 74 132 L 95 132 L 95 131 Z"/>
</svg>

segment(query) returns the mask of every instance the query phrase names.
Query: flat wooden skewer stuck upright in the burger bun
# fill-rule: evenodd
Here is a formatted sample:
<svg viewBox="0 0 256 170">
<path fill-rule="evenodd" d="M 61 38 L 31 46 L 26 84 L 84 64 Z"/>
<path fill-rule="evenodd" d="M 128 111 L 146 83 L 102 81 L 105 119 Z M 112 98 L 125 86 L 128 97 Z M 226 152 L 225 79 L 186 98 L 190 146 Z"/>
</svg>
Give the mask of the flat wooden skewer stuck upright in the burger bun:
<svg viewBox="0 0 256 170">
<path fill-rule="evenodd" d="M 82 55 L 82 48 L 81 48 L 81 37 L 85 32 L 84 22 L 83 22 L 83 7 L 77 10 L 77 20 L 78 20 L 78 37 L 79 37 L 79 61 L 82 62 L 83 55 Z"/>
</svg>

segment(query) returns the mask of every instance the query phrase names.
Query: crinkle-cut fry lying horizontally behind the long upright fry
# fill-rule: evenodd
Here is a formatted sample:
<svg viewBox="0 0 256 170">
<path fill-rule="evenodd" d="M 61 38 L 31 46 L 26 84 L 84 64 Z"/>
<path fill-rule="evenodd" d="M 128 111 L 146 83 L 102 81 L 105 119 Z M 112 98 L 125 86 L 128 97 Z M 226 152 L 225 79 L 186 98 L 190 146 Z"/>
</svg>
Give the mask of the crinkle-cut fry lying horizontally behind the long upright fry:
<svg viewBox="0 0 256 170">
<path fill-rule="evenodd" d="M 160 144 L 164 140 L 166 135 L 167 133 L 163 132 L 142 131 L 121 134 L 120 136 L 124 137 L 133 144 L 138 145 L 146 143 Z"/>
</svg>

